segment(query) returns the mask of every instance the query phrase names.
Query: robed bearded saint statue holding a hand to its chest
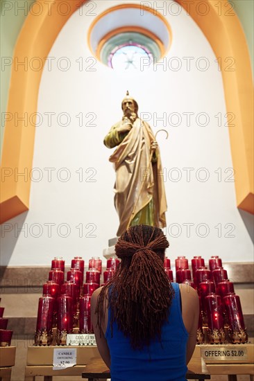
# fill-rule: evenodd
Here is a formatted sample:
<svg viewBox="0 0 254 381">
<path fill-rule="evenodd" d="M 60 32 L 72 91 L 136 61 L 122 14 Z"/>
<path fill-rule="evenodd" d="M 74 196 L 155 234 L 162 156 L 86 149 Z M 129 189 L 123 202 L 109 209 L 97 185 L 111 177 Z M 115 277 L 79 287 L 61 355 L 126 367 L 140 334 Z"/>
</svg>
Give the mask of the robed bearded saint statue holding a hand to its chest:
<svg viewBox="0 0 254 381">
<path fill-rule="evenodd" d="M 148 123 L 137 116 L 138 105 L 128 94 L 121 103 L 124 116 L 105 136 L 115 163 L 115 208 L 119 215 L 117 236 L 130 226 L 165 227 L 167 201 L 160 151 Z"/>
</svg>

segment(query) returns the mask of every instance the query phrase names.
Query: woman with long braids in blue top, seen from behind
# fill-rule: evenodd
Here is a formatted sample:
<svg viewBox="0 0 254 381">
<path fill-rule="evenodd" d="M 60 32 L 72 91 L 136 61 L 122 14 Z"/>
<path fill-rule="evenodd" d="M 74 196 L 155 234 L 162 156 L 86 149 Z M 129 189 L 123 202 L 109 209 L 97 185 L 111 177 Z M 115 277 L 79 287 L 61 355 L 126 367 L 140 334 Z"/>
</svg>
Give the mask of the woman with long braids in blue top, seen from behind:
<svg viewBox="0 0 254 381">
<path fill-rule="evenodd" d="M 163 266 L 168 246 L 159 228 L 129 227 L 115 245 L 117 272 L 92 295 L 96 342 L 112 381 L 185 380 L 196 344 L 198 296 L 192 287 L 179 290 L 169 282 Z"/>
</svg>

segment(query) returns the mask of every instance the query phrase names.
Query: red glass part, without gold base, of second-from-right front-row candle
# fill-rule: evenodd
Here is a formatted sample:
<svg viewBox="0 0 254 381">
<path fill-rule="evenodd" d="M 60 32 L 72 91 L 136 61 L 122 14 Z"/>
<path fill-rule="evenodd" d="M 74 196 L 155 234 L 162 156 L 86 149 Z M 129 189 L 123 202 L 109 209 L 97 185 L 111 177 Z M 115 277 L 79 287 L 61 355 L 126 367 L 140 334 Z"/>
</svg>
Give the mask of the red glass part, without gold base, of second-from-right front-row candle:
<svg viewBox="0 0 254 381">
<path fill-rule="evenodd" d="M 205 296 L 205 301 L 208 313 L 208 328 L 210 328 L 211 331 L 223 329 L 221 296 L 210 294 Z"/>
</svg>

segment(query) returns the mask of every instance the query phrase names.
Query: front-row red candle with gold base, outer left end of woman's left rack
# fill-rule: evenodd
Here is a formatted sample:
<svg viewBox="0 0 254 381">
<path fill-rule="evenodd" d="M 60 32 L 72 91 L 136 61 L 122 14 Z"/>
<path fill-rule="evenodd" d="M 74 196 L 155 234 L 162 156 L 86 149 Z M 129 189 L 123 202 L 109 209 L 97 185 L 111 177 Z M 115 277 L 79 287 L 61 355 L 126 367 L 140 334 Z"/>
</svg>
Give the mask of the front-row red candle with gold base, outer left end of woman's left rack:
<svg viewBox="0 0 254 381">
<path fill-rule="evenodd" d="M 56 299 L 46 295 L 39 299 L 35 345 L 50 345 L 52 342 L 53 311 Z"/>
</svg>

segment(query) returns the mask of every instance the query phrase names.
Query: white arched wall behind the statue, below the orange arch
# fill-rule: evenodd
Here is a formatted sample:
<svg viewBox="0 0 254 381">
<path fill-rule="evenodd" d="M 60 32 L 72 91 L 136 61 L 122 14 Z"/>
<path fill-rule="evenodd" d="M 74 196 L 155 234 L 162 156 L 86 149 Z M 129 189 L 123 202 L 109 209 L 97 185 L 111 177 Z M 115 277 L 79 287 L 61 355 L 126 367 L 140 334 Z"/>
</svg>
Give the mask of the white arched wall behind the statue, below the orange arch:
<svg viewBox="0 0 254 381">
<path fill-rule="evenodd" d="M 95 5 L 92 13 L 98 15 L 115 1 Z M 10 220 L 10 232 L 2 232 L 1 265 L 49 265 L 56 255 L 64 256 L 66 263 L 74 255 L 86 262 L 92 255 L 102 256 L 118 226 L 115 172 L 108 162 L 112 150 L 103 146 L 103 137 L 121 118 L 126 89 L 137 99 L 144 118 L 151 117 L 155 132 L 169 131 L 167 141 L 164 134 L 158 135 L 169 206 L 168 255 L 190 259 L 200 254 L 208 259 L 217 254 L 227 262 L 251 261 L 251 238 L 236 208 L 234 183 L 229 181 L 232 160 L 221 73 L 203 33 L 185 10 L 177 16 L 167 12 L 173 43 L 166 68 L 117 73 L 96 62 L 87 46 L 87 30 L 96 17 L 90 9 L 83 6 L 67 21 L 49 54 L 51 65 L 44 68 L 33 161 L 39 168 L 33 175 L 41 180 L 33 181 L 27 215 Z M 70 68 L 65 71 L 67 62 Z M 197 69 L 198 62 L 209 62 L 209 69 Z M 178 63 L 181 69 L 173 70 Z M 58 123 L 67 120 L 62 113 L 69 115 L 65 127 Z M 190 125 L 188 113 L 194 114 Z M 156 120 L 165 114 L 166 125 Z M 179 115 L 181 123 L 176 126 Z M 204 116 L 210 122 L 201 126 Z M 92 119 L 94 126 L 89 125 Z M 201 181 L 205 174 L 208 181 Z M 71 176 L 69 181 L 63 181 L 65 175 Z M 174 181 L 177 176 L 179 181 Z M 65 233 L 69 235 L 63 238 Z"/>
</svg>

